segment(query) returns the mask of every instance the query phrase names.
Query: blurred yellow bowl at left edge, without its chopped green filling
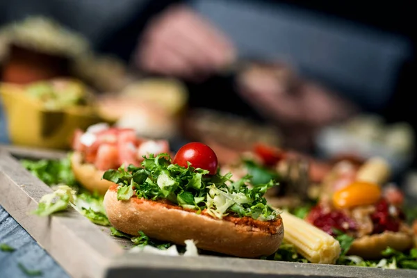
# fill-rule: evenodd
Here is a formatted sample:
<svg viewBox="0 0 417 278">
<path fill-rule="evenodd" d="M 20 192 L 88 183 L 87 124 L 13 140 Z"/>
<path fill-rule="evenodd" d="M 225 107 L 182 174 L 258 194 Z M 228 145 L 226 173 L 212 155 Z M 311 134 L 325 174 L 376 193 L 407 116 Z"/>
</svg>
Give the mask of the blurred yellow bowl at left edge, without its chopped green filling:
<svg viewBox="0 0 417 278">
<path fill-rule="evenodd" d="M 92 106 L 73 106 L 51 111 L 24 95 L 22 85 L 0 84 L 8 133 L 13 145 L 67 149 L 76 129 L 104 121 Z"/>
</svg>

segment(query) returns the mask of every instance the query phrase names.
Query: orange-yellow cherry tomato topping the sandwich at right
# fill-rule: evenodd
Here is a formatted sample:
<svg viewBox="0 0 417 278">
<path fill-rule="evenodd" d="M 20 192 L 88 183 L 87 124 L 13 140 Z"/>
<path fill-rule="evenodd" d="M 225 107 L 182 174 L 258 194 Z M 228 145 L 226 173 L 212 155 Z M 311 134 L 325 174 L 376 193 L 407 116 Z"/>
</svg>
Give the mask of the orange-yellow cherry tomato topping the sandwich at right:
<svg viewBox="0 0 417 278">
<path fill-rule="evenodd" d="M 336 191 L 333 204 L 336 208 L 352 208 L 375 204 L 382 195 L 381 188 L 376 183 L 354 181 L 349 186 Z"/>
</svg>

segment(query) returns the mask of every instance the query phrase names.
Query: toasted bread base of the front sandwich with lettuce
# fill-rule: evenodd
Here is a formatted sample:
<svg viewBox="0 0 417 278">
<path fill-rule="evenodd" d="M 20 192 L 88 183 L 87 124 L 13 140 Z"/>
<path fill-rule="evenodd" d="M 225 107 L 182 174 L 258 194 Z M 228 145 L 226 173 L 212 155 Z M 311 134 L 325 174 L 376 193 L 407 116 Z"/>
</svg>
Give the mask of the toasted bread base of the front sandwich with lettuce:
<svg viewBox="0 0 417 278">
<path fill-rule="evenodd" d="M 209 215 L 186 211 L 147 199 L 131 197 L 117 200 L 117 186 L 111 186 L 104 196 L 104 207 L 113 227 L 134 236 L 143 231 L 150 238 L 184 245 L 195 240 L 197 247 L 245 258 L 268 256 L 276 252 L 284 237 L 280 217 L 273 222 L 261 222 L 265 227 L 236 222 L 240 218 L 220 220 Z M 251 218 L 252 220 L 252 218 Z"/>
</svg>

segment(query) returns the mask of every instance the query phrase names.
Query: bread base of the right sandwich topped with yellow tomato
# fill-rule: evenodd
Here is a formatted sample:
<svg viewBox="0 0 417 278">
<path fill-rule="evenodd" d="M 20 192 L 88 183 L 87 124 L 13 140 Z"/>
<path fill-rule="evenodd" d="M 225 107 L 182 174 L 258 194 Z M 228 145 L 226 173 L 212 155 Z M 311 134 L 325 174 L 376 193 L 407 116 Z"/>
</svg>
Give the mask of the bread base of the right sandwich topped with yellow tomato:
<svg viewBox="0 0 417 278">
<path fill-rule="evenodd" d="M 391 247 L 404 251 L 413 245 L 413 237 L 404 231 L 384 231 L 382 234 L 363 236 L 353 241 L 349 254 L 361 256 L 363 259 L 379 259 L 381 252 Z"/>
</svg>

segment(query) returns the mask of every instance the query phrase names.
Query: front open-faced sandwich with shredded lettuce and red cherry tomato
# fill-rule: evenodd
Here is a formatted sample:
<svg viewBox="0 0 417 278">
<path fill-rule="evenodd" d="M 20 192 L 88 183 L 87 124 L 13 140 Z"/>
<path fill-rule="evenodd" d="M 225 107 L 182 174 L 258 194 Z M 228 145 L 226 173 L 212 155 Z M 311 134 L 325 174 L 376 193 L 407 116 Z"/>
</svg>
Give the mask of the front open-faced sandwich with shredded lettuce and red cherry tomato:
<svg viewBox="0 0 417 278">
<path fill-rule="evenodd" d="M 247 258 L 274 254 L 284 236 L 279 213 L 263 197 L 275 184 L 249 188 L 246 177 L 229 182 L 218 172 L 213 150 L 198 142 L 169 154 L 142 158 L 141 167 L 108 170 L 113 185 L 104 196 L 115 229 L 202 250 Z"/>
</svg>

